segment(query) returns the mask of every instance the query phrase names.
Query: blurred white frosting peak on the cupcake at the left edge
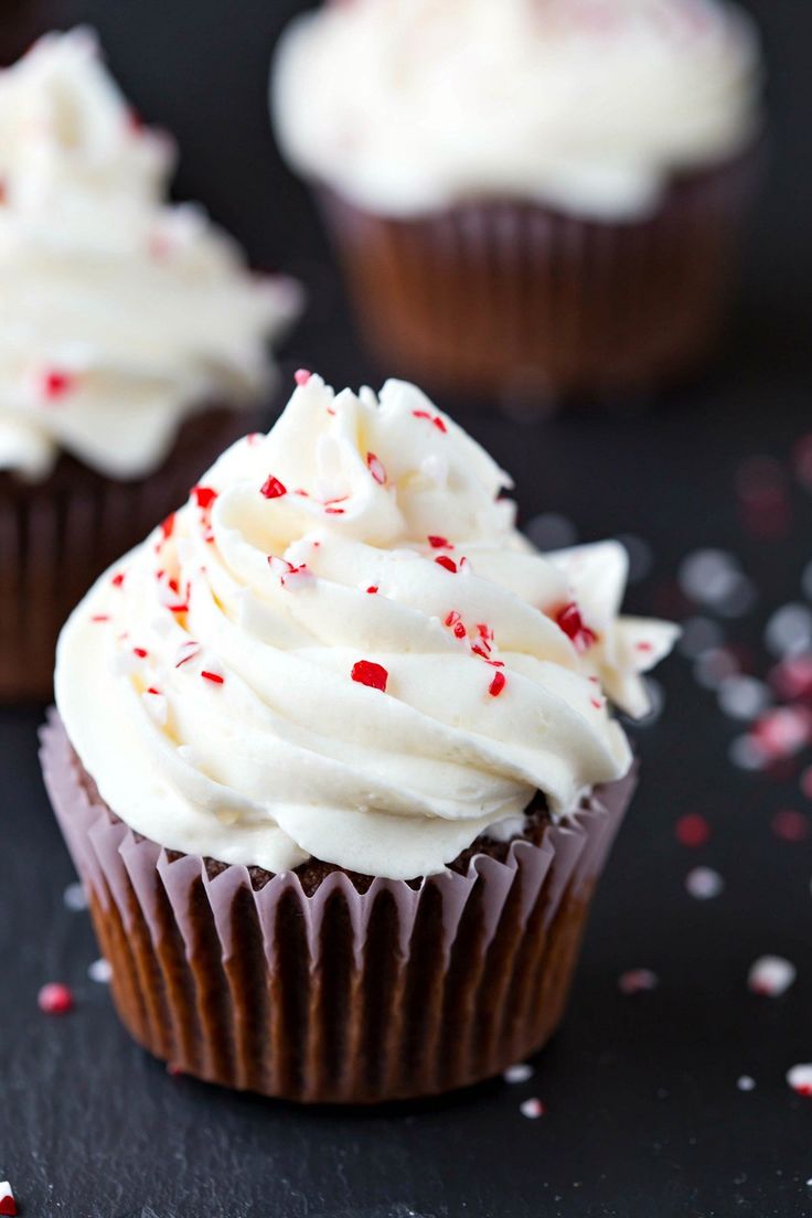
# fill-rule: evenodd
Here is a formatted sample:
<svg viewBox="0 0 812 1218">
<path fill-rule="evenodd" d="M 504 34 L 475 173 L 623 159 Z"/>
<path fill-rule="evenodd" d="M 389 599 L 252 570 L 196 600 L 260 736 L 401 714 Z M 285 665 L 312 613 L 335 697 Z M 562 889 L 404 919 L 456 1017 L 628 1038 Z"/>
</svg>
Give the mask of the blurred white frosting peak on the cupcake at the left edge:
<svg viewBox="0 0 812 1218">
<path fill-rule="evenodd" d="M 65 449 L 138 477 L 192 410 L 264 390 L 297 290 L 164 202 L 173 162 L 86 30 L 0 72 L 0 469 L 41 479 Z"/>
</svg>

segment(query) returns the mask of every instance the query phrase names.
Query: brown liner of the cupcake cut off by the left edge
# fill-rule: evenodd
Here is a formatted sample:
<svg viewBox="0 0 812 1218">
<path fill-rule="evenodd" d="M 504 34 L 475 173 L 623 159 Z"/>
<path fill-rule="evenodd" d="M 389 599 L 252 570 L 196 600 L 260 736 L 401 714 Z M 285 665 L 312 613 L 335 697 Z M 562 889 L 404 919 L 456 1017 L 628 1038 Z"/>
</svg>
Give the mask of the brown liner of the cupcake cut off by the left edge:
<svg viewBox="0 0 812 1218">
<path fill-rule="evenodd" d="M 63 456 L 45 482 L 0 473 L 0 702 L 52 695 L 62 625 L 93 581 L 185 502 L 254 412 L 186 420 L 162 468 L 121 482 Z"/>
</svg>

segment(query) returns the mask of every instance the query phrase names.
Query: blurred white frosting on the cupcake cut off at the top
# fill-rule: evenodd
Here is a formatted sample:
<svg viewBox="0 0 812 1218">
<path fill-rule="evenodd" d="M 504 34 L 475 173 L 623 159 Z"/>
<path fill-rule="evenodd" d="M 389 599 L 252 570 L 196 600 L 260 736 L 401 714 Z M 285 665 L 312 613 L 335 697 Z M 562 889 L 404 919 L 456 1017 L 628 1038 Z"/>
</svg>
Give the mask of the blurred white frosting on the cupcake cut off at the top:
<svg viewBox="0 0 812 1218">
<path fill-rule="evenodd" d="M 393 216 L 472 196 L 627 220 L 758 123 L 758 40 L 719 0 L 343 0 L 274 72 L 306 174 Z"/>
</svg>

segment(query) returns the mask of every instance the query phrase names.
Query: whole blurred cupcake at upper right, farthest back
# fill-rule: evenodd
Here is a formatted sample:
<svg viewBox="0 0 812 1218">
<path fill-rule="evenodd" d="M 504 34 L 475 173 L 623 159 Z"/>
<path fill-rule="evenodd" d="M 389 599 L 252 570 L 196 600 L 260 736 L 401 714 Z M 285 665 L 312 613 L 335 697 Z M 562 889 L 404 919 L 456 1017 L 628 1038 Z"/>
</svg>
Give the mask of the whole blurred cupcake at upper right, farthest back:
<svg viewBox="0 0 812 1218">
<path fill-rule="evenodd" d="M 273 106 L 387 368 L 549 403 L 712 346 L 760 82 L 717 0 L 347 0 L 284 35 Z"/>
</svg>

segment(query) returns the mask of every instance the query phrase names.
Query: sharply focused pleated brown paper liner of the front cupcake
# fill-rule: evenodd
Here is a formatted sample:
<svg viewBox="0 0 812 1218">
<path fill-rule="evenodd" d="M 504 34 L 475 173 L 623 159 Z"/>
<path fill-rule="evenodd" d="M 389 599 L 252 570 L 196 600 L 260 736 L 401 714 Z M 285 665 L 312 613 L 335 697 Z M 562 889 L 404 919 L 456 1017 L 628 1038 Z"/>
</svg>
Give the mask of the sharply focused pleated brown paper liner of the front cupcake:
<svg viewBox="0 0 812 1218">
<path fill-rule="evenodd" d="M 598 788 L 571 826 L 505 862 L 418 887 L 293 872 L 139 838 L 88 793 L 56 714 L 41 732 L 54 809 L 135 1040 L 178 1069 L 304 1102 L 373 1104 L 466 1086 L 539 1049 L 567 999 L 595 882 L 634 788 Z"/>
</svg>

